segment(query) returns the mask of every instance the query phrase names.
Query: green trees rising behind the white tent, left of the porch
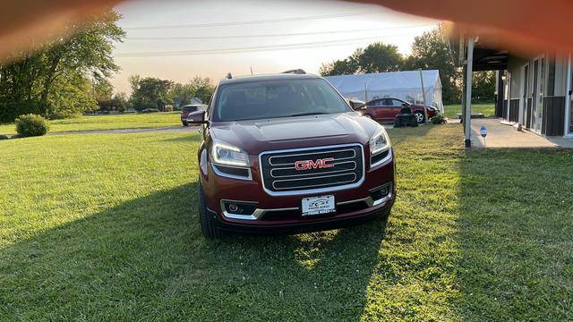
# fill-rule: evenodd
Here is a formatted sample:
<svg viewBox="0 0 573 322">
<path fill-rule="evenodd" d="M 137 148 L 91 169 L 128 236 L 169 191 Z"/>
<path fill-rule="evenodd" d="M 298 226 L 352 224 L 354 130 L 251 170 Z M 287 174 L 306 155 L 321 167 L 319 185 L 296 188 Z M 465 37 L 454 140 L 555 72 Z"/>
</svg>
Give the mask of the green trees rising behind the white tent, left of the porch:
<svg viewBox="0 0 573 322">
<path fill-rule="evenodd" d="M 346 75 L 370 72 L 398 72 L 436 69 L 440 71 L 442 99 L 446 104 L 461 99 L 462 72 L 449 50 L 444 30 L 438 28 L 415 38 L 411 55 L 401 55 L 398 47 L 381 42 L 358 48 L 345 59 L 321 65 L 321 75 Z M 475 72 L 472 94 L 475 100 L 493 101 L 495 72 Z"/>
</svg>

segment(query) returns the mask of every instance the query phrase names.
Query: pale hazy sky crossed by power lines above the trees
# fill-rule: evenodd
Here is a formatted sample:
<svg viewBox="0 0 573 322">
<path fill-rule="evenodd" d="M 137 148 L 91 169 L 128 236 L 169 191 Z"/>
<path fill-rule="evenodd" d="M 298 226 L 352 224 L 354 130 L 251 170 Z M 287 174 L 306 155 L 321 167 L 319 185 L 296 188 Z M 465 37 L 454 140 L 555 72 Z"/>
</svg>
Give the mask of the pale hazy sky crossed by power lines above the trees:
<svg viewBox="0 0 573 322">
<path fill-rule="evenodd" d="M 129 93 L 130 75 L 217 82 L 227 72 L 276 73 L 343 59 L 376 41 L 410 54 L 412 42 L 439 21 L 373 4 L 335 0 L 132 1 L 115 8 L 127 32 L 116 44 L 121 67 L 111 82 Z"/>
</svg>

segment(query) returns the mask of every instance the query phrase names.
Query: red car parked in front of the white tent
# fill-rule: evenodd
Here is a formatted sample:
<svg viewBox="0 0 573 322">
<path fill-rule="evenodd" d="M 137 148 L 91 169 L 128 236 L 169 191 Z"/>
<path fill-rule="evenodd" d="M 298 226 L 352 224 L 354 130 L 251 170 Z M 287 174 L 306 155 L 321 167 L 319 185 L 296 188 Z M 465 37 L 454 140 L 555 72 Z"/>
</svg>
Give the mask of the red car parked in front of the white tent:
<svg viewBox="0 0 573 322">
<path fill-rule="evenodd" d="M 410 104 L 399 98 L 373 99 L 366 103 L 366 106 L 361 107 L 360 111 L 364 116 L 370 117 L 376 122 L 393 123 L 394 120 L 396 120 L 396 115 L 400 114 L 400 109 L 404 105 L 410 106 L 412 113 L 415 114 L 415 120 L 418 123 L 425 121 L 423 106 Z M 438 113 L 438 109 L 432 106 L 426 106 L 426 112 L 428 113 L 428 118 L 432 118 L 433 115 Z"/>
</svg>

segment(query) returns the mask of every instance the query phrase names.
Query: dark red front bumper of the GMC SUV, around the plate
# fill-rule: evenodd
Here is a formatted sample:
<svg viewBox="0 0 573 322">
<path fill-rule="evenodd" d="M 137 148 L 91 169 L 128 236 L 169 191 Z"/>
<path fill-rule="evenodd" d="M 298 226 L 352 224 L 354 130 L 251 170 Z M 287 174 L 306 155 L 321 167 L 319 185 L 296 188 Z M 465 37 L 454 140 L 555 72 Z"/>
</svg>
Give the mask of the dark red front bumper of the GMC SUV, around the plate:
<svg viewBox="0 0 573 322">
<path fill-rule="evenodd" d="M 389 162 L 366 169 L 360 186 L 340 191 L 327 191 L 335 197 L 337 212 L 321 216 L 301 216 L 301 200 L 316 194 L 271 196 L 261 185 L 258 165 L 253 165 L 252 180 L 239 180 L 221 176 L 206 167 L 201 172 L 201 186 L 211 216 L 217 218 L 220 229 L 240 233 L 295 233 L 336 229 L 356 225 L 389 213 L 396 198 L 394 184 L 394 156 Z M 389 187 L 388 194 L 375 196 L 372 191 Z M 253 204 L 252 213 L 235 216 L 226 211 L 224 202 L 236 201 Z"/>
</svg>

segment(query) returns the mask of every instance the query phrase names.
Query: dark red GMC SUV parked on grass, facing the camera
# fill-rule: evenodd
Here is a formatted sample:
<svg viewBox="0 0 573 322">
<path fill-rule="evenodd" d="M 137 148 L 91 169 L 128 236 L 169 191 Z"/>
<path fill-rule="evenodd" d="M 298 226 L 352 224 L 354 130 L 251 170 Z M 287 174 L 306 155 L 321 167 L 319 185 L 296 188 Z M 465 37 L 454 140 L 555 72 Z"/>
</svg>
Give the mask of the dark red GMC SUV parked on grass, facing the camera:
<svg viewBox="0 0 573 322">
<path fill-rule="evenodd" d="M 295 73 L 221 80 L 201 123 L 199 202 L 207 238 L 299 233 L 389 216 L 394 153 L 384 128 L 327 80 Z"/>
</svg>

